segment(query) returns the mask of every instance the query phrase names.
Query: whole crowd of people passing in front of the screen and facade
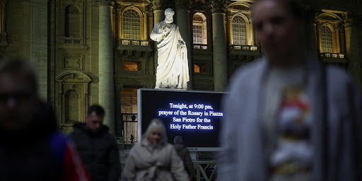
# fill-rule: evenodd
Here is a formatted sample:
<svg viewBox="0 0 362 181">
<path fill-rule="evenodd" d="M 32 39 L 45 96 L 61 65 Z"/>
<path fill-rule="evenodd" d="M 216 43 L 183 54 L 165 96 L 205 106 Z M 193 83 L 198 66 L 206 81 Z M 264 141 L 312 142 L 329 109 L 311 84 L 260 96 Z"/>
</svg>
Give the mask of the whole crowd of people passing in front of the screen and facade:
<svg viewBox="0 0 362 181">
<path fill-rule="evenodd" d="M 253 3 L 264 56 L 233 76 L 223 100 L 219 180 L 362 180 L 361 92 L 345 71 L 308 55 L 304 18 L 296 0 Z M 52 107 L 40 101 L 33 66 L 1 59 L 0 180 L 119 180 L 105 114 L 92 105 L 84 123 L 61 134 Z M 122 172 L 126 181 L 194 180 L 182 137 L 169 144 L 160 119 Z"/>
</svg>

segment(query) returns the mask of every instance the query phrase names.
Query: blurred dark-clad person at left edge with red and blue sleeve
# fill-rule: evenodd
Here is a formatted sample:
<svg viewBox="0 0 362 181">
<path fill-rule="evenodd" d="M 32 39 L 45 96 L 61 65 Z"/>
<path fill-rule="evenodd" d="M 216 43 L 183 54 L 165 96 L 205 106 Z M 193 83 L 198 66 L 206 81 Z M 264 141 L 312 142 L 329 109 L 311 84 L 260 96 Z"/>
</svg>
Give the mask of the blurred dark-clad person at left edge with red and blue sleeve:
<svg viewBox="0 0 362 181">
<path fill-rule="evenodd" d="M 89 180 L 23 59 L 0 59 L 0 180 Z"/>
</svg>

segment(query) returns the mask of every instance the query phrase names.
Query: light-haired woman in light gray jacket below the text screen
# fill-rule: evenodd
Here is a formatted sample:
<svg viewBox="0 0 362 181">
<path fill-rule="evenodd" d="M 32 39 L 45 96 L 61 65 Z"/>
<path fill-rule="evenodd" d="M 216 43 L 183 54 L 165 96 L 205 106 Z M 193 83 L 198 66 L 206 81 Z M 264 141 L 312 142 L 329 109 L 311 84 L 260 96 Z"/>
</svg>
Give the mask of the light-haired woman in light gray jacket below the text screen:
<svg viewBox="0 0 362 181">
<path fill-rule="evenodd" d="M 189 180 L 175 148 L 167 143 L 160 119 L 152 120 L 141 141 L 129 152 L 123 180 Z"/>
</svg>

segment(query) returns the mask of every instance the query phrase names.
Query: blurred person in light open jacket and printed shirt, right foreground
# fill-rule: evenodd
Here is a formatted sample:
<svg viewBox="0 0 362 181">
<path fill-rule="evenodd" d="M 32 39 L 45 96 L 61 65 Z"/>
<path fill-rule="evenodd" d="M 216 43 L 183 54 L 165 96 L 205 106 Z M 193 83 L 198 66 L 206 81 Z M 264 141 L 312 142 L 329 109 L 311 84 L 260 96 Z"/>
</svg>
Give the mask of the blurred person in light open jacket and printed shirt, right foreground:
<svg viewBox="0 0 362 181">
<path fill-rule="evenodd" d="M 265 56 L 240 69 L 223 100 L 221 180 L 358 180 L 354 81 L 308 57 L 296 1 L 257 0 L 252 19 Z"/>
</svg>

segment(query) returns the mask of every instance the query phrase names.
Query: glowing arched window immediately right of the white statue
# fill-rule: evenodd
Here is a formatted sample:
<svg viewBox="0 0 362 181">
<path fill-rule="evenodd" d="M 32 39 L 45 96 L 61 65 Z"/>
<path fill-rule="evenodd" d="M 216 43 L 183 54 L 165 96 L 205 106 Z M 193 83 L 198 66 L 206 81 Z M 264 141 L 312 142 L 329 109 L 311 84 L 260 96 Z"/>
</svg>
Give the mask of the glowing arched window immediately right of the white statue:
<svg viewBox="0 0 362 181">
<path fill-rule="evenodd" d="M 206 16 L 203 13 L 195 13 L 192 16 L 192 40 L 194 44 L 207 45 Z"/>
</svg>

